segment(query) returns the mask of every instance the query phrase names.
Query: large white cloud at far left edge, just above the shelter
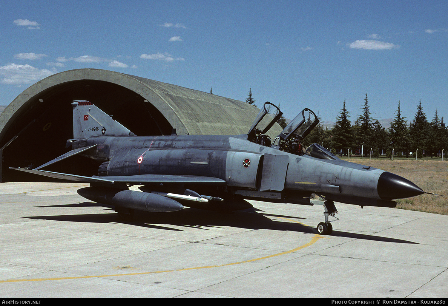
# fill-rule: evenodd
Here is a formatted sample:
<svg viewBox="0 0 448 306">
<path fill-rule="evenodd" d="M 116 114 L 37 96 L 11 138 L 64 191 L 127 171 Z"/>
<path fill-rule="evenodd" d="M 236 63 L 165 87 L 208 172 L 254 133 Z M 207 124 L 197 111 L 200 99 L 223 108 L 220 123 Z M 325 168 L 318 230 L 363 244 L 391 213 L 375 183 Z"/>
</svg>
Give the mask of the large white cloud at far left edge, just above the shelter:
<svg viewBox="0 0 448 306">
<path fill-rule="evenodd" d="M 32 84 L 54 73 L 56 71 L 38 69 L 28 64 L 9 64 L 0 67 L 0 83 L 7 85 Z"/>
</svg>

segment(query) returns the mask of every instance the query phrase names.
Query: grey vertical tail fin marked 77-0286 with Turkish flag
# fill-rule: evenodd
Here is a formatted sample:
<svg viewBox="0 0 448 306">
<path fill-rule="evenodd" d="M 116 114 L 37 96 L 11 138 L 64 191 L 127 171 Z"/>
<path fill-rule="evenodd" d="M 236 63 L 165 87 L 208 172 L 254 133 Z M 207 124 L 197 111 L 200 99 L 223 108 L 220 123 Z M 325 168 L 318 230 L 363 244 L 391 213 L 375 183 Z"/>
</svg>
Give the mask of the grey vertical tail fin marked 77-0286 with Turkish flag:
<svg viewBox="0 0 448 306">
<path fill-rule="evenodd" d="M 131 135 L 131 132 L 89 101 L 73 101 L 73 139 L 101 135 Z"/>
</svg>

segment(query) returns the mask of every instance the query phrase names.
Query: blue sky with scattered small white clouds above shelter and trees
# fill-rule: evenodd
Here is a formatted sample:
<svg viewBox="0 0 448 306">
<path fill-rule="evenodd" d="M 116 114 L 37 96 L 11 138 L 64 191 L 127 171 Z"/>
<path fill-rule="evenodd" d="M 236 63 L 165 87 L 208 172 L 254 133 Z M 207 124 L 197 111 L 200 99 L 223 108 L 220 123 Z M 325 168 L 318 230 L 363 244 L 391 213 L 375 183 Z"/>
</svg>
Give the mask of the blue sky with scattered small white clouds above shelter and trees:
<svg viewBox="0 0 448 306">
<path fill-rule="evenodd" d="M 99 68 L 350 119 L 448 122 L 448 1 L 17 1 L 0 12 L 0 105 Z M 92 101 L 94 102 L 94 101 Z"/>
</svg>

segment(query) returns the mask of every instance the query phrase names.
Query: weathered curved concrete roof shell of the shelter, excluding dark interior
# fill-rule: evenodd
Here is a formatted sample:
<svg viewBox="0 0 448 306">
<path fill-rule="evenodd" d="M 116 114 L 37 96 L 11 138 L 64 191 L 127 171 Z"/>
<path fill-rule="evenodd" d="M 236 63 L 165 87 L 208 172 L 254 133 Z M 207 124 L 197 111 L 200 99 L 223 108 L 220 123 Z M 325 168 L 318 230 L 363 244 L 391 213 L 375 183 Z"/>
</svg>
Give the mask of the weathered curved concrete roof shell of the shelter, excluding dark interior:
<svg viewBox="0 0 448 306">
<path fill-rule="evenodd" d="M 31 85 L 9 104 L 0 116 L 0 138 L 10 120 L 20 116 L 30 103 L 39 103 L 47 91 L 70 91 L 77 84 L 103 81 L 129 89 L 160 111 L 179 135 L 246 134 L 258 109 L 249 104 L 177 85 L 102 69 L 76 69 L 60 72 Z M 80 83 L 82 82 L 82 83 Z M 113 86 L 110 87 L 111 89 Z M 90 97 L 83 97 L 95 104 Z"/>
</svg>

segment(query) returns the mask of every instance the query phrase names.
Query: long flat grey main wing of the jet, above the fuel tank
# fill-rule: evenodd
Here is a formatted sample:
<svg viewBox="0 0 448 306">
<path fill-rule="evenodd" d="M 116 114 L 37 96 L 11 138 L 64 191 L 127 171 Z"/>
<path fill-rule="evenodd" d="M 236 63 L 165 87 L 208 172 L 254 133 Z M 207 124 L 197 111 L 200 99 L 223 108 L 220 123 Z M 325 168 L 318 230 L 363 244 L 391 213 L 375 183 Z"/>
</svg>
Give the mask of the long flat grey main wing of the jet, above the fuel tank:
<svg viewBox="0 0 448 306">
<path fill-rule="evenodd" d="M 36 170 L 31 168 L 9 168 L 13 170 L 24 171 L 28 173 L 39 174 L 50 178 L 65 179 L 68 181 L 79 183 L 126 183 L 136 185 L 146 184 L 208 184 L 208 185 L 225 185 L 226 182 L 220 178 L 212 178 L 206 176 L 194 175 L 165 175 L 165 174 L 140 174 L 140 175 L 123 175 L 123 176 L 82 176 L 75 174 L 66 174 L 45 170 Z"/>
</svg>

